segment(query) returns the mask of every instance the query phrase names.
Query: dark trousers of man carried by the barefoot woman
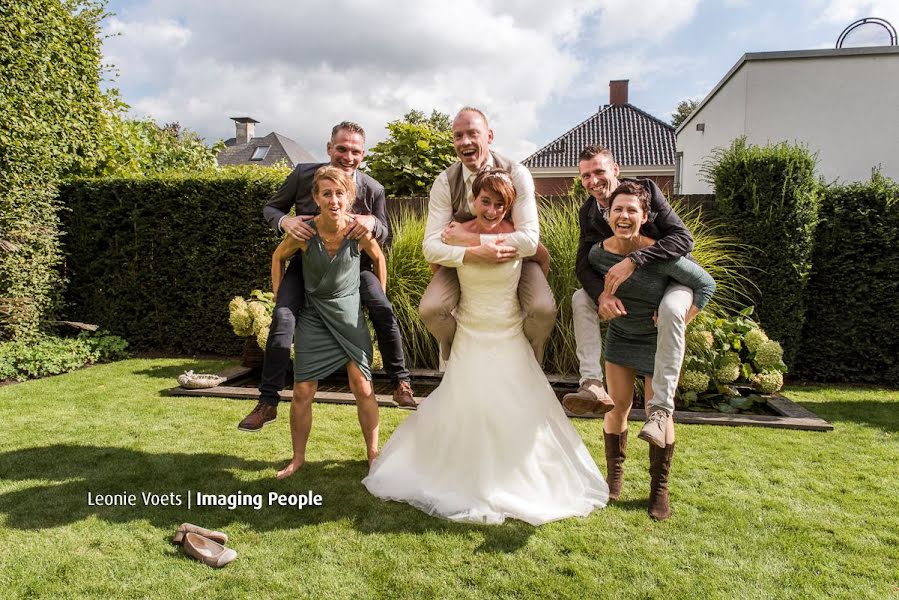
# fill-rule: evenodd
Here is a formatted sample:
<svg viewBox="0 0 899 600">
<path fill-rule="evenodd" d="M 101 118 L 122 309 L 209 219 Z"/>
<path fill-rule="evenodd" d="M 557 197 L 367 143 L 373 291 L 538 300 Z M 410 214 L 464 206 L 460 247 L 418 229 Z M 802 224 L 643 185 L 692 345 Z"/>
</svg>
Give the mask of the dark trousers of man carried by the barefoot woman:
<svg viewBox="0 0 899 600">
<path fill-rule="evenodd" d="M 393 314 L 393 305 L 381 289 L 378 278 L 371 271 L 360 271 L 359 295 L 362 298 L 362 306 L 368 309 L 368 318 L 374 325 L 384 370 L 391 383 L 396 386 L 401 380 L 409 379 L 409 371 L 406 370 L 403 339 Z M 293 382 L 293 373 L 287 372 L 287 363 L 290 361 L 296 316 L 303 308 L 304 298 L 303 261 L 298 254 L 287 266 L 281 287 L 278 289 L 278 302 L 272 313 L 272 325 L 268 333 L 268 342 L 265 344 L 259 399 L 269 404 L 277 405 L 278 392 Z M 300 343 L 303 341 L 300 340 Z"/>
</svg>

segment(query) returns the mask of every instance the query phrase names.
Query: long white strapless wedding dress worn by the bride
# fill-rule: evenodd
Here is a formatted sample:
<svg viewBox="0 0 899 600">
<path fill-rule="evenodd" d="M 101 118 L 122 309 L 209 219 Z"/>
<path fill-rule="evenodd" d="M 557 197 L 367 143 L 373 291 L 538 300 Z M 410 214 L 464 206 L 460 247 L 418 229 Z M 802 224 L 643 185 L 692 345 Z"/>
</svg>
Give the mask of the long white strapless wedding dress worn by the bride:
<svg viewBox="0 0 899 600">
<path fill-rule="evenodd" d="M 609 489 L 522 331 L 521 261 L 458 268 L 462 295 L 440 386 L 362 483 L 453 521 L 532 525 L 586 516 Z"/>
</svg>

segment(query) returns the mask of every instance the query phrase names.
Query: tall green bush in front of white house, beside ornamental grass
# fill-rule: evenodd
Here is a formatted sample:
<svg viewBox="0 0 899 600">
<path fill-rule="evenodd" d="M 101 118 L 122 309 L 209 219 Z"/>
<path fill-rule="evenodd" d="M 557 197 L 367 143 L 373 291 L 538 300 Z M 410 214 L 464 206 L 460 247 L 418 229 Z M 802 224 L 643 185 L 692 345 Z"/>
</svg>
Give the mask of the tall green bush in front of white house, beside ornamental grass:
<svg viewBox="0 0 899 600">
<path fill-rule="evenodd" d="M 818 184 L 815 157 L 802 146 L 752 146 L 738 138 L 703 167 L 727 232 L 751 248 L 752 304 L 783 343 L 787 364 L 799 349 L 811 273 Z"/>
</svg>

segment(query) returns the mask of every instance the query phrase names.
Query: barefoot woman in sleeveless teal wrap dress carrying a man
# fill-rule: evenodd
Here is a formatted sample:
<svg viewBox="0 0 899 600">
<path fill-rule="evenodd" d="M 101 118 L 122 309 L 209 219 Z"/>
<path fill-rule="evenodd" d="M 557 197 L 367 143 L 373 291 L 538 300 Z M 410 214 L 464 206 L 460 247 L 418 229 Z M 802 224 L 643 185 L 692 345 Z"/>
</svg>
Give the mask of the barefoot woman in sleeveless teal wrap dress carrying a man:
<svg viewBox="0 0 899 600">
<path fill-rule="evenodd" d="M 359 256 L 371 257 L 374 273 L 387 289 L 387 265 L 378 242 L 368 233 L 346 237 L 352 224 L 356 186 L 352 176 L 336 167 L 315 173 L 312 195 L 321 213 L 311 221 L 308 241 L 286 237 L 272 256 L 272 284 L 277 296 L 288 259 L 302 251 L 305 303 L 294 332 L 294 386 L 290 404 L 293 458 L 278 471 L 278 479 L 293 475 L 306 460 L 312 429 L 312 400 L 318 380 L 346 367 L 369 464 L 378 455 L 378 402 L 371 387 L 372 345 L 359 299 Z"/>
</svg>

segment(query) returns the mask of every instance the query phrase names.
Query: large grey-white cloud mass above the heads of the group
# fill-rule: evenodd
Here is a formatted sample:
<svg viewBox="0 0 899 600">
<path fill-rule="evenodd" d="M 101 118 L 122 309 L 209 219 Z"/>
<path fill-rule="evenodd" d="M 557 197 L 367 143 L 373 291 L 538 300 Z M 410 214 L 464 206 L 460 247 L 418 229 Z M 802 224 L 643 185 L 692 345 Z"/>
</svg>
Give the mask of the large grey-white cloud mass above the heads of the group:
<svg viewBox="0 0 899 600">
<path fill-rule="evenodd" d="M 607 90 L 609 73 L 633 78 L 670 64 L 622 52 L 615 68 L 595 68 L 578 44 L 597 18 L 603 44 L 660 39 L 689 21 L 697 1 L 150 0 L 107 23 L 121 35 L 104 52 L 134 114 L 208 139 L 234 135 L 229 117 L 252 116 L 258 134 L 278 131 L 323 157 L 338 121 L 358 121 L 371 145 L 409 109 L 452 114 L 474 104 L 490 117 L 496 147 L 523 158 L 551 97 Z"/>
</svg>

